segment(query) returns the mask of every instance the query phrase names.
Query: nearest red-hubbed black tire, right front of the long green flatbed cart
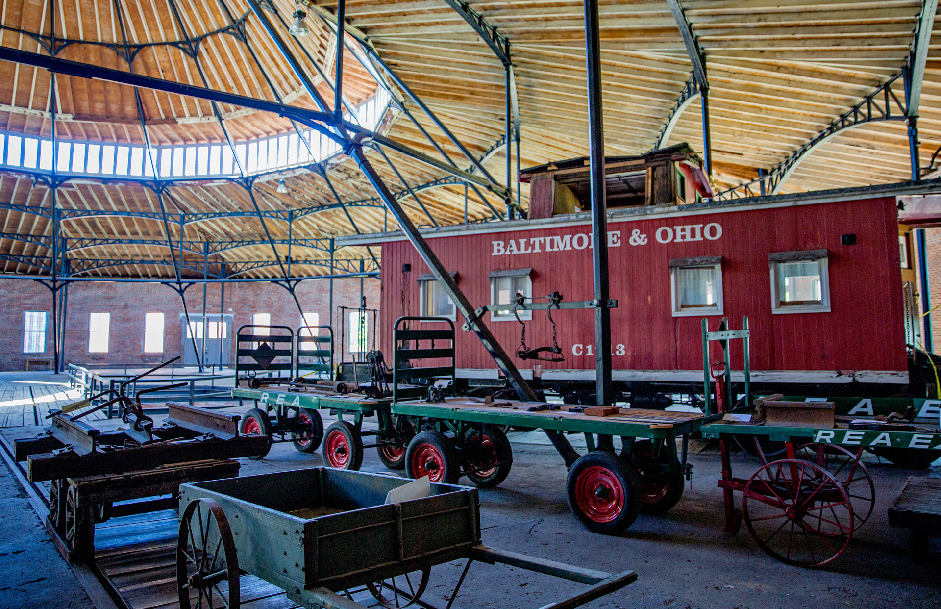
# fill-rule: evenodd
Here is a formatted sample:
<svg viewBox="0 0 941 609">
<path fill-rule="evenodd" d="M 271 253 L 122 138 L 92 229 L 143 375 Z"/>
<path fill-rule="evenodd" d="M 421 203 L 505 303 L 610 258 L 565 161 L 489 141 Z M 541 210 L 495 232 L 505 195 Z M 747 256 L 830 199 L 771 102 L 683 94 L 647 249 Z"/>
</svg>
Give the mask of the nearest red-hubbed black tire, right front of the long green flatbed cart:
<svg viewBox="0 0 941 609">
<path fill-rule="evenodd" d="M 613 505 L 606 507 L 603 502 L 611 492 L 615 492 L 615 500 Z M 630 463 L 605 451 L 592 451 L 572 464 L 568 469 L 566 496 L 572 514 L 592 533 L 622 533 L 640 514 L 637 471 Z M 585 505 L 596 503 L 596 499 L 599 505 L 587 509 Z"/>
</svg>

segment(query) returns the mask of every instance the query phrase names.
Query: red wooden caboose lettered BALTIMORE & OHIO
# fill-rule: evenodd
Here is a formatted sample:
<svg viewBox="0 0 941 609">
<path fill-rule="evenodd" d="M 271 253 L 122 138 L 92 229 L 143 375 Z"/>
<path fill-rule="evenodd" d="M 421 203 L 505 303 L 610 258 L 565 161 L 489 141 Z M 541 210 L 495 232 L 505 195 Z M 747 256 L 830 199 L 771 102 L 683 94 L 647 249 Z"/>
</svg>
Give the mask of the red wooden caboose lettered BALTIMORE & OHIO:
<svg viewBox="0 0 941 609">
<path fill-rule="evenodd" d="M 618 300 L 613 377 L 625 398 L 650 407 L 665 393 L 701 393 L 703 317 L 710 328 L 722 317 L 735 328 L 749 318 L 758 389 L 903 391 L 906 344 L 916 342 L 918 324 L 914 271 L 906 270 L 910 240 L 900 232 L 893 187 L 704 202 L 711 192 L 697 161 L 685 146 L 606 160 L 611 295 Z M 524 377 L 573 401 L 593 399 L 593 315 L 552 311 L 553 329 L 545 312 L 515 313 L 512 303 L 517 294 L 593 297 L 591 221 L 580 209 L 587 172 L 584 159 L 524 172 L 533 184 L 531 216 L 543 217 L 423 231 L 471 302 L 507 304 L 485 319 L 507 351 L 517 350 L 524 327 L 525 346 L 560 347 L 564 361 L 517 364 Z M 454 304 L 402 233 L 343 239 L 365 243 L 382 247 L 382 345 L 391 345 L 397 317 L 455 318 Z M 459 378 L 499 382 L 473 333 L 459 335 L 456 347 Z M 737 355 L 733 368 L 741 369 Z"/>
</svg>

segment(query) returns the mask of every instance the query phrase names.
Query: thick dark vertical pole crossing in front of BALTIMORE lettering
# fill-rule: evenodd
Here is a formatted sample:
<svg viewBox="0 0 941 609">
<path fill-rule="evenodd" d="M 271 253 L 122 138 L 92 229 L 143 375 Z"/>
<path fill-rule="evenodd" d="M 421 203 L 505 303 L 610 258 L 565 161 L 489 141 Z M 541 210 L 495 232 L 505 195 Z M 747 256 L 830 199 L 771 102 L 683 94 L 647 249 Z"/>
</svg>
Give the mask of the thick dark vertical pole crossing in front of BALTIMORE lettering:
<svg viewBox="0 0 941 609">
<path fill-rule="evenodd" d="M 601 104 L 601 49 L 598 0 L 585 0 L 585 63 L 588 72 L 588 137 L 591 158 L 591 225 L 595 275 L 595 374 L 598 406 L 613 403 L 611 310 L 608 308 L 608 218 L 605 214 L 604 115 Z M 507 142 L 509 145 L 509 142 Z"/>
</svg>

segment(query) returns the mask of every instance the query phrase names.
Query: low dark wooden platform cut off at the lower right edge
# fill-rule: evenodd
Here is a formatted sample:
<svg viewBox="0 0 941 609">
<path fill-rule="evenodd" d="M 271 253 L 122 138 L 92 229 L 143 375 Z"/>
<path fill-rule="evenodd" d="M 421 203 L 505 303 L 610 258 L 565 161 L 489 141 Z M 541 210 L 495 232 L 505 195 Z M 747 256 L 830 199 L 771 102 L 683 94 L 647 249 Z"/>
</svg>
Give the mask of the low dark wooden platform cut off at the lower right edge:
<svg viewBox="0 0 941 609">
<path fill-rule="evenodd" d="M 929 537 L 941 537 L 941 478 L 909 477 L 888 508 L 888 523 L 908 529 L 912 560 L 928 562 Z"/>
</svg>

